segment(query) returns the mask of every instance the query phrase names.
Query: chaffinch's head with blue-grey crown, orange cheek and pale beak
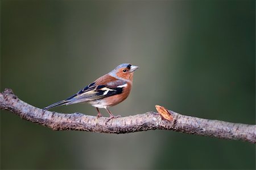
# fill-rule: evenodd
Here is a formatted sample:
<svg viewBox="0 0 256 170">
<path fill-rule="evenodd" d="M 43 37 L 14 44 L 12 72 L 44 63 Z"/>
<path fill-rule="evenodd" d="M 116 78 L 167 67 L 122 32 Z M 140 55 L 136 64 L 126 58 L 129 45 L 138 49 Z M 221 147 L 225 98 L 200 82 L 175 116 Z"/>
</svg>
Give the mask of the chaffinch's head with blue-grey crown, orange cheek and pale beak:
<svg viewBox="0 0 256 170">
<path fill-rule="evenodd" d="M 113 71 L 110 72 L 110 75 L 113 77 L 120 77 L 125 80 L 133 80 L 133 72 L 139 67 L 131 64 L 120 64 Z"/>
</svg>

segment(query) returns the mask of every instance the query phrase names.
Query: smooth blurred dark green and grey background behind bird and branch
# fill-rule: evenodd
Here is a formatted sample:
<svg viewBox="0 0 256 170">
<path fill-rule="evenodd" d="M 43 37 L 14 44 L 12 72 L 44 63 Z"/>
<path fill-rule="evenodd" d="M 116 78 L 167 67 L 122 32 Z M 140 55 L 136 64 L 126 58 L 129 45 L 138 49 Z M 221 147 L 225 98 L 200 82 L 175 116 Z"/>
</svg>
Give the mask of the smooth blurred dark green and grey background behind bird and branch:
<svg viewBox="0 0 256 170">
<path fill-rule="evenodd" d="M 43 108 L 121 63 L 140 68 L 116 115 L 163 105 L 255 124 L 255 1 L 1 1 L 1 92 Z M 97 114 L 87 104 L 52 110 Z M 255 169 L 246 142 L 52 131 L 0 115 L 1 169 Z"/>
</svg>

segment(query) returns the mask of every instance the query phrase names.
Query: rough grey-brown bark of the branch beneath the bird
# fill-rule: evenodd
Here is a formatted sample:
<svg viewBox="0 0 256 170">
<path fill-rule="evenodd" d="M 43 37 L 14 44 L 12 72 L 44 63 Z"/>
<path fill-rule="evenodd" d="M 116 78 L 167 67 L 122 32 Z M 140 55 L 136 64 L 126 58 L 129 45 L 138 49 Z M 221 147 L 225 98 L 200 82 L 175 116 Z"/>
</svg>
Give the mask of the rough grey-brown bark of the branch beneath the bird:
<svg viewBox="0 0 256 170">
<path fill-rule="evenodd" d="M 169 120 L 162 117 L 166 113 L 162 114 L 159 112 L 159 114 L 150 111 L 144 114 L 115 118 L 108 121 L 108 118 L 105 117 L 97 118 L 81 113 L 62 114 L 39 109 L 20 100 L 13 94 L 11 89 L 5 89 L 4 92 L 0 93 L 0 109 L 9 110 L 19 115 L 22 119 L 38 123 L 53 130 L 80 130 L 124 134 L 158 129 L 256 143 L 256 125 L 190 117 L 171 110 L 168 110 L 171 117 Z"/>
</svg>

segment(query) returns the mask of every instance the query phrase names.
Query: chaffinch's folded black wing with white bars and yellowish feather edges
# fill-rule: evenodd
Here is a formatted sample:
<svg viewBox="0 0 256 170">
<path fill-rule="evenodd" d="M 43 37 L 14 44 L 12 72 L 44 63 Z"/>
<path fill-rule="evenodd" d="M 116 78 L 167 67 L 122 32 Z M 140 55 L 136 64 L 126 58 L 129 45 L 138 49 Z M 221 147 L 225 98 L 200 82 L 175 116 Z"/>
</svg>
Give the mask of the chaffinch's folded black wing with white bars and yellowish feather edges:
<svg viewBox="0 0 256 170">
<path fill-rule="evenodd" d="M 75 95 L 65 99 L 65 101 L 74 103 L 79 101 L 85 102 L 102 99 L 116 94 L 121 94 L 123 88 L 127 85 L 126 82 L 122 80 L 110 81 L 104 85 L 97 84 L 98 83 L 96 82 L 89 84 L 84 89 L 81 89 L 79 92 L 77 92 Z"/>
</svg>

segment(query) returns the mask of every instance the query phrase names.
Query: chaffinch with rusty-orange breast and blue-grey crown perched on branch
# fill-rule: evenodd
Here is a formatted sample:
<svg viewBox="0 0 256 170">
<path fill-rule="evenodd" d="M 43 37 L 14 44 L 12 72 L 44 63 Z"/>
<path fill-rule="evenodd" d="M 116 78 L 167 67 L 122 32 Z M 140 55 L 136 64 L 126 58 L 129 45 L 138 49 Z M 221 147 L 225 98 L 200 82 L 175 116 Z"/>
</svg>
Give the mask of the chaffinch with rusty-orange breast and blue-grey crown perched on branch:
<svg viewBox="0 0 256 170">
<path fill-rule="evenodd" d="M 43 110 L 85 102 L 96 107 L 97 118 L 102 117 L 99 108 L 108 111 L 109 119 L 118 118 L 120 116 L 113 115 L 109 107 L 117 105 L 129 96 L 133 86 L 133 74 L 138 68 L 131 64 L 120 64 L 113 71 L 101 76 L 73 96 L 44 107 Z"/>
</svg>

